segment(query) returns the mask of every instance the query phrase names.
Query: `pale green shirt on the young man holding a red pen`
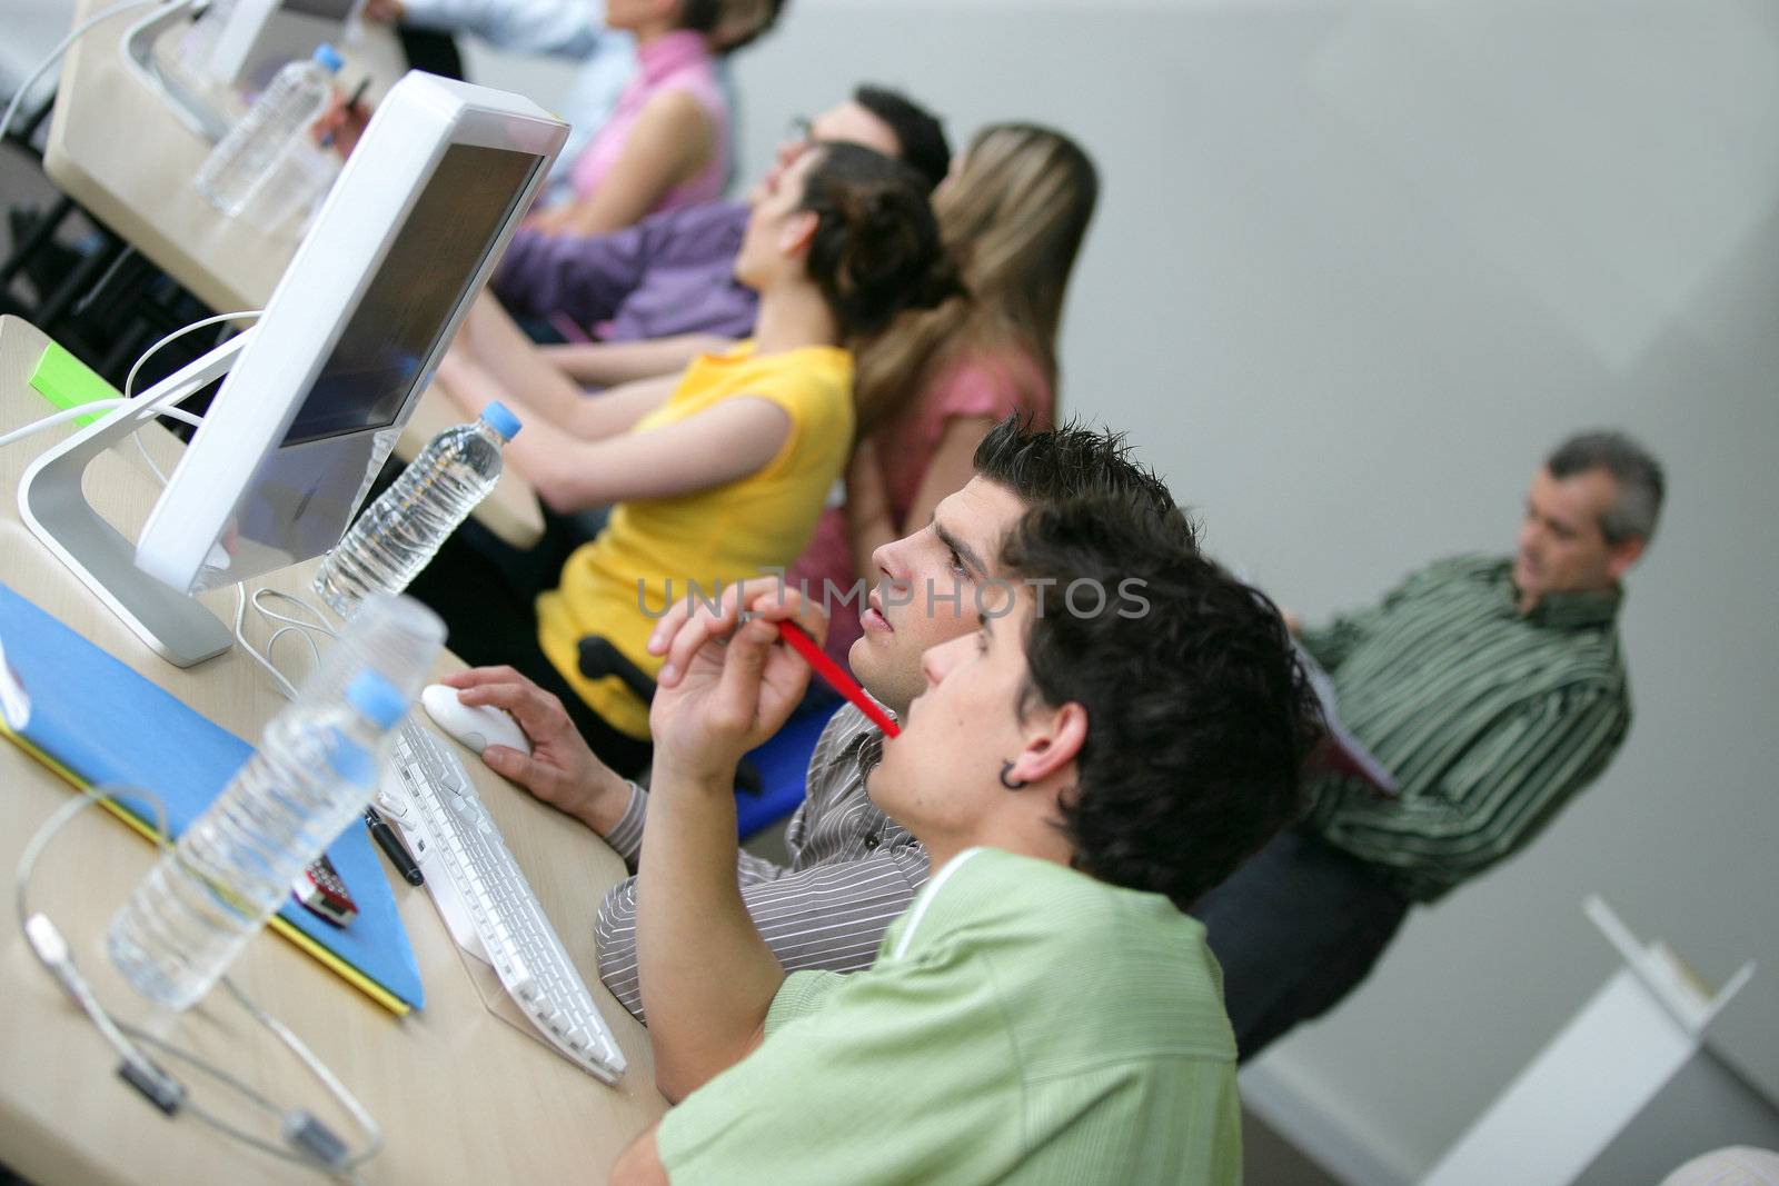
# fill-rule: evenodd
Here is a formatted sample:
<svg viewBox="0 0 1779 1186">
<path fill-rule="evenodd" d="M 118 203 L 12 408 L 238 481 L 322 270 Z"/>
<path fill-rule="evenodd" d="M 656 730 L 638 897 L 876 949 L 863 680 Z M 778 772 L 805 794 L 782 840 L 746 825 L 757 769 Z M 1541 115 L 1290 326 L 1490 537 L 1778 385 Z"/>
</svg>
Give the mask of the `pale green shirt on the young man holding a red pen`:
<svg viewBox="0 0 1779 1186">
<path fill-rule="evenodd" d="M 795 973 L 749 1058 L 662 1120 L 676 1184 L 1242 1181 L 1204 928 L 1160 894 L 973 848 L 870 971 Z"/>
</svg>

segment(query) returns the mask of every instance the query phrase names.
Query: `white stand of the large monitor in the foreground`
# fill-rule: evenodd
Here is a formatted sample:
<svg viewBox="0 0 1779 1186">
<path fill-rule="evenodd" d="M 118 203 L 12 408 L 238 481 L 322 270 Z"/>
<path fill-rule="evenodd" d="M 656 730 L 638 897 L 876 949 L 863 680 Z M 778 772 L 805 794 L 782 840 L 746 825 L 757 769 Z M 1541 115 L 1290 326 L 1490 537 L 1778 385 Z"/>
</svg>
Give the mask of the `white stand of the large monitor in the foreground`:
<svg viewBox="0 0 1779 1186">
<path fill-rule="evenodd" d="M 167 375 L 98 423 L 87 425 L 30 464 L 18 484 L 25 526 L 75 576 L 125 621 L 137 638 L 174 667 L 192 667 L 222 654 L 235 642 L 215 613 L 189 594 L 162 585 L 135 567 L 135 544 L 100 517 L 82 489 L 93 459 L 123 445 L 155 420 L 160 407 L 196 395 L 228 373 L 247 343 L 247 329 L 210 354 Z"/>
</svg>

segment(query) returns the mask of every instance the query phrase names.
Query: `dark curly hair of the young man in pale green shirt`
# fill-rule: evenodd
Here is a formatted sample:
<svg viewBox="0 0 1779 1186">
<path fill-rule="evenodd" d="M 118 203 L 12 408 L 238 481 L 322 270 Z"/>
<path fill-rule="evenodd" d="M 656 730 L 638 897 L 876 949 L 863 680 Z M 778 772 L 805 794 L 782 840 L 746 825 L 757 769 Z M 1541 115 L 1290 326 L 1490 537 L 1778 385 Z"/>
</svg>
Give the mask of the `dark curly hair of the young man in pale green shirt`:
<svg viewBox="0 0 1779 1186">
<path fill-rule="evenodd" d="M 1002 567 L 1035 599 L 1019 711 L 1087 711 L 1075 866 L 1185 910 L 1302 813 L 1322 717 L 1283 617 L 1130 494 L 1034 507 Z"/>
</svg>

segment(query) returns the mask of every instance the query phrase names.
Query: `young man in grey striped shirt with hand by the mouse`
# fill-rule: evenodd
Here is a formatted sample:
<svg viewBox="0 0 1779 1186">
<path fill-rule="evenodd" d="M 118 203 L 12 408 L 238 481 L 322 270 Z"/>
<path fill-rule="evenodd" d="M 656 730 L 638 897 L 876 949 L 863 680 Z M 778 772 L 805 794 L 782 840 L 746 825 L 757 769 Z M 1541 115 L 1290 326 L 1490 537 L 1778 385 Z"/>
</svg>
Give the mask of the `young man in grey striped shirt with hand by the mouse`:
<svg viewBox="0 0 1779 1186">
<path fill-rule="evenodd" d="M 877 587 L 850 665 L 895 715 L 925 686 L 922 654 L 975 629 L 977 589 L 993 576 L 998 542 L 1026 509 L 1121 494 L 1156 514 L 1178 514 L 1167 485 L 1126 457 L 1121 437 L 1076 425 L 1028 432 L 1009 418 L 982 441 L 975 468 L 977 477 L 938 505 L 932 523 L 875 555 Z M 772 578 L 761 585 L 781 592 Z M 667 621 L 656 637 L 665 628 Z M 459 672 L 447 683 L 463 690 L 464 704 L 511 711 L 532 741 L 530 757 L 491 745 L 482 761 L 587 823 L 637 866 L 648 793 L 587 750 L 555 697 L 505 667 Z M 809 759 L 806 800 L 785 834 L 790 864 L 738 853 L 742 902 L 786 971 L 870 967 L 884 930 L 929 877 L 920 839 L 865 793 L 882 743 L 865 713 L 843 706 Z M 642 1017 L 635 925 L 637 880 L 630 878 L 600 909 L 600 974 Z"/>
</svg>

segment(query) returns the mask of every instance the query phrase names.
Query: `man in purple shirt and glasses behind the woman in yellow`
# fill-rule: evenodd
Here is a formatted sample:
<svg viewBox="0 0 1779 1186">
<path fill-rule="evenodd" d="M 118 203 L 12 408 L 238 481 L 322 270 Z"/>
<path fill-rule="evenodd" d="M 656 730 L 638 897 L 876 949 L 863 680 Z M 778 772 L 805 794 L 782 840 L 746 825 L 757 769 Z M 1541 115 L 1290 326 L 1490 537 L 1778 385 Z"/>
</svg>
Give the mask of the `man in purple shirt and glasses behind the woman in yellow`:
<svg viewBox="0 0 1779 1186">
<path fill-rule="evenodd" d="M 882 87 L 861 85 L 850 100 L 815 119 L 793 121 L 772 171 L 785 169 L 815 140 L 863 144 L 897 156 L 934 187 L 952 165 L 939 121 Z M 747 203 L 713 201 L 660 213 L 612 235 L 519 231 L 495 274 L 493 290 L 519 320 L 550 318 L 559 329 L 585 329 L 605 343 L 678 334 L 744 338 L 753 333 L 756 306 L 754 292 L 733 276 L 745 226 Z M 639 373 L 683 363 L 681 356 L 644 365 Z M 630 377 L 639 375 L 612 373 L 594 382 Z"/>
</svg>

